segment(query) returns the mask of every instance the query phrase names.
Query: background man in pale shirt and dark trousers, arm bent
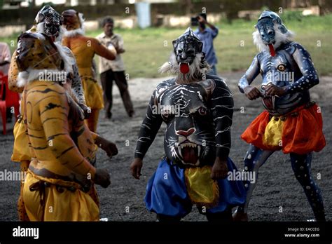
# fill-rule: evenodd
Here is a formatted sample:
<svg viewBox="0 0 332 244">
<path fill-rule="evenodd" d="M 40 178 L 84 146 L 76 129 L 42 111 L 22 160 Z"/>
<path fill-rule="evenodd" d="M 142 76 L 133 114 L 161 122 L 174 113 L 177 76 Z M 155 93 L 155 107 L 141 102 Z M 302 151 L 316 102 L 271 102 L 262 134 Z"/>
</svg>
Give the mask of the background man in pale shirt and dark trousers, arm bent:
<svg viewBox="0 0 332 244">
<path fill-rule="evenodd" d="M 99 34 L 97 39 L 104 46 L 113 45 L 118 53 L 115 60 L 106 60 L 106 58 L 101 57 L 99 62 L 100 80 L 102 81 L 102 88 L 104 90 L 105 118 L 111 118 L 112 116 L 113 80 L 116 81 L 116 86 L 120 90 L 120 95 L 128 116 L 132 117 L 134 115 L 134 108 L 132 107 L 132 100 L 130 99 L 128 84 L 125 79 L 125 65 L 120 55 L 120 53 L 125 53 L 123 39 L 119 34 L 113 33 L 114 21 L 112 18 L 104 18 L 102 26 L 104 27 L 104 33 Z"/>
</svg>

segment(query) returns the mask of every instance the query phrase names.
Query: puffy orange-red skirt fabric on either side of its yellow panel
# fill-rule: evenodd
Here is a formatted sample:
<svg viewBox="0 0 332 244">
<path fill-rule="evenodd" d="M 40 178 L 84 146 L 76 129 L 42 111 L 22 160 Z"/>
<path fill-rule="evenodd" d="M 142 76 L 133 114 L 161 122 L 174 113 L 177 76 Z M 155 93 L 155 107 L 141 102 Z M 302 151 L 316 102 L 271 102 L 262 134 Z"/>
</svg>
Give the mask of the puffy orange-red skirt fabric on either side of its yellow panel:
<svg viewBox="0 0 332 244">
<path fill-rule="evenodd" d="M 270 121 L 268 111 L 263 111 L 244 130 L 241 138 L 263 150 L 280 150 L 284 154 L 307 154 L 311 151 L 321 151 L 325 147 L 323 134 L 323 120 L 320 108 L 314 104 L 307 108 L 298 107 L 287 114 L 282 127 L 281 147 L 270 146 L 264 143 L 265 128 Z"/>
</svg>

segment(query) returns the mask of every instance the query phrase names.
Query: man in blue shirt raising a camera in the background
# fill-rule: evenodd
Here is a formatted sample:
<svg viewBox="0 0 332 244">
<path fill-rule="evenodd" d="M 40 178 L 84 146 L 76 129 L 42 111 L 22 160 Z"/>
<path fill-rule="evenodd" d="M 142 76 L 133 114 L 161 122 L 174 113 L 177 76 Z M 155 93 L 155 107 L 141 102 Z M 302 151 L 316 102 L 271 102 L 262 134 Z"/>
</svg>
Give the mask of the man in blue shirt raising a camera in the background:
<svg viewBox="0 0 332 244">
<path fill-rule="evenodd" d="M 201 13 L 198 15 L 199 27 L 195 31 L 196 36 L 203 43 L 203 53 L 205 53 L 205 60 L 210 65 L 211 70 L 208 74 L 216 75 L 216 53 L 214 52 L 213 39 L 218 36 L 218 28 L 207 22 L 207 15 Z M 206 25 L 209 27 L 207 28 Z"/>
</svg>

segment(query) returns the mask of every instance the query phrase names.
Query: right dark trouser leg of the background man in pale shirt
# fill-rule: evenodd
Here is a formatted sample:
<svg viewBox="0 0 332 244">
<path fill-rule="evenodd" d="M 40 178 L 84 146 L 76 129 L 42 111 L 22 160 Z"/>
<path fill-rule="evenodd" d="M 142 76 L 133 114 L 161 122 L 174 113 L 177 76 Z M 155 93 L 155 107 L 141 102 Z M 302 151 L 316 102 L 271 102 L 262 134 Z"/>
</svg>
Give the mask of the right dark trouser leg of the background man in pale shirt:
<svg viewBox="0 0 332 244">
<path fill-rule="evenodd" d="M 125 79 L 125 72 L 114 72 L 114 80 L 120 90 L 120 95 L 125 105 L 127 114 L 131 117 L 134 114 L 134 108 L 132 107 L 132 100 L 130 99 L 130 93 L 128 90 L 127 80 Z"/>
</svg>

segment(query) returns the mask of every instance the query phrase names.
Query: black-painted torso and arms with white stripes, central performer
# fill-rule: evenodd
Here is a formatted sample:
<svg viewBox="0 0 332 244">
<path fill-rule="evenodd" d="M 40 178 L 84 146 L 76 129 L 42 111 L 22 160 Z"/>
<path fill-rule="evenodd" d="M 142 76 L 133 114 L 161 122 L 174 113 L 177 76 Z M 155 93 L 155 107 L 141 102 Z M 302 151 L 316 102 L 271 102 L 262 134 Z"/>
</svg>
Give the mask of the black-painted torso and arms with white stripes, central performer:
<svg viewBox="0 0 332 244">
<path fill-rule="evenodd" d="M 212 165 L 216 156 L 228 158 L 232 116 L 233 97 L 219 77 L 188 84 L 163 81 L 151 97 L 135 155 L 144 156 L 164 122 L 169 161 L 184 167 Z"/>
</svg>

